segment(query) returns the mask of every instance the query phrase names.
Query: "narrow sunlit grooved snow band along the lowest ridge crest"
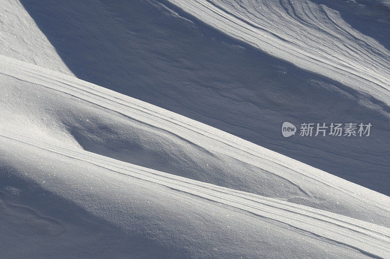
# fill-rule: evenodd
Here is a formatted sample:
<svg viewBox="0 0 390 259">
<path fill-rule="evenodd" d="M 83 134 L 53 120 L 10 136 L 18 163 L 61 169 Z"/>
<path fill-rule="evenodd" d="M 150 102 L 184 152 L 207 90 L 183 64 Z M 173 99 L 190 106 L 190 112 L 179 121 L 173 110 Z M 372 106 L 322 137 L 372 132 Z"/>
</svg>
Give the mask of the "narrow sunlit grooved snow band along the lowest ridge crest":
<svg viewBox="0 0 390 259">
<path fill-rule="evenodd" d="M 90 152 L 71 151 L 16 134 L 3 134 L 1 137 L 20 141 L 61 156 L 77 159 L 83 163 L 90 163 L 143 182 L 152 182 L 177 192 L 183 192 L 197 198 L 207 199 L 250 212 L 255 216 L 271 219 L 303 230 L 314 236 L 347 245 L 361 251 L 365 255 L 374 257 L 390 255 L 390 229 L 386 227 L 286 201 L 176 177 Z"/>
</svg>

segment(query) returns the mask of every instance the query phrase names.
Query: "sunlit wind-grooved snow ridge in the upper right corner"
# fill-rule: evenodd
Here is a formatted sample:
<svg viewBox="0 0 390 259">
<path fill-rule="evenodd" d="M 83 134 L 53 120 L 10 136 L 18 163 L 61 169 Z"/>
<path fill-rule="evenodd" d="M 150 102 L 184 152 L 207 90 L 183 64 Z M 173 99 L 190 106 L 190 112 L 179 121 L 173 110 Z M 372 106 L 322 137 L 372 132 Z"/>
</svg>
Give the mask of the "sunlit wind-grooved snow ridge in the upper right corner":
<svg viewBox="0 0 390 259">
<path fill-rule="evenodd" d="M 390 103 L 390 51 L 325 2 L 168 1 L 238 40 Z M 337 3 L 343 10 L 351 8 L 346 1 Z"/>
</svg>

